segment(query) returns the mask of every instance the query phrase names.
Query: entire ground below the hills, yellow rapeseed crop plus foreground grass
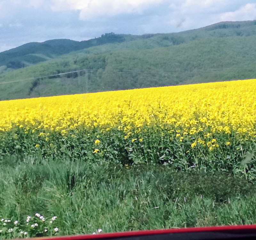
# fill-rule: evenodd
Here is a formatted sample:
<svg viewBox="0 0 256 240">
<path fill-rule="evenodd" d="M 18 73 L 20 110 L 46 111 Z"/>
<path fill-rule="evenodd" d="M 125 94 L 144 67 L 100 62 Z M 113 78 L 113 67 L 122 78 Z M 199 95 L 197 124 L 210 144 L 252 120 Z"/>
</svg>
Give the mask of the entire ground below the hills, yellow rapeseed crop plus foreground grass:
<svg viewBox="0 0 256 240">
<path fill-rule="evenodd" d="M 0 101 L 0 237 L 256 223 L 254 89 Z"/>
</svg>

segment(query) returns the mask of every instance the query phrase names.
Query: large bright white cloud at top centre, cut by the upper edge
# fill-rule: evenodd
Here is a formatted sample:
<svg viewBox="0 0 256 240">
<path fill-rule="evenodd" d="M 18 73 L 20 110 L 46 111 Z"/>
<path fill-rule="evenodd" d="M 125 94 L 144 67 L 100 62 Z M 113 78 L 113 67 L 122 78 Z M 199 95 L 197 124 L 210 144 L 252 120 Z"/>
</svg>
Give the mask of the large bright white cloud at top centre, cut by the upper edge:
<svg viewBox="0 0 256 240">
<path fill-rule="evenodd" d="M 52 0 L 52 10 L 80 10 L 80 20 L 92 20 L 122 13 L 142 13 L 162 0 Z"/>
</svg>

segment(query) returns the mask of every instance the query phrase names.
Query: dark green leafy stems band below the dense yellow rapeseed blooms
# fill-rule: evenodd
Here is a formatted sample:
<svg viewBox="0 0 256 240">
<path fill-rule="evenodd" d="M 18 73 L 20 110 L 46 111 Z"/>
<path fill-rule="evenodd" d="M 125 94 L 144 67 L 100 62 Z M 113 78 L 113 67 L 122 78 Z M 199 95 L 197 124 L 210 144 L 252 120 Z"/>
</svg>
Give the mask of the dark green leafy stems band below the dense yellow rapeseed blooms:
<svg viewBox="0 0 256 240">
<path fill-rule="evenodd" d="M 157 127 L 145 127 L 127 133 L 112 128 L 108 131 L 94 129 L 41 132 L 13 126 L 1 132 L 0 160 L 8 156 L 35 156 L 43 158 L 72 157 L 96 163 L 107 161 L 118 164 L 164 164 L 175 171 L 197 171 L 233 173 L 254 181 L 255 139 L 236 135 L 231 131 L 208 136 L 197 132 L 192 137 Z M 178 131 L 178 130 L 177 130 Z M 197 143 L 200 139 L 204 143 Z M 99 140 L 99 143 L 95 143 Z"/>
</svg>

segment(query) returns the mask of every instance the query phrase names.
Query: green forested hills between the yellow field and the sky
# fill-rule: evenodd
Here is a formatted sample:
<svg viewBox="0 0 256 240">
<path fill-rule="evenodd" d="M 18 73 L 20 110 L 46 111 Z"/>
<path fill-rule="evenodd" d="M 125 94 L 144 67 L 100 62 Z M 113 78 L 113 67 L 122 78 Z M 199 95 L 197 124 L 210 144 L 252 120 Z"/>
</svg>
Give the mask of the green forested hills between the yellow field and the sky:
<svg viewBox="0 0 256 240">
<path fill-rule="evenodd" d="M 0 67 L 0 100 L 256 78 L 256 21 L 221 22 L 170 34 L 110 33 L 84 41 L 83 47 L 72 40 L 47 42 L 49 52 L 36 48 L 39 43 L 20 48 L 30 52 L 26 56 L 47 53 L 49 60 L 9 72 L 7 65 Z M 69 47 L 63 50 L 65 43 Z M 0 53 L 0 62 L 1 54 L 8 52 L 25 56 L 14 50 Z M 69 53 L 62 54 L 65 51 Z"/>
</svg>

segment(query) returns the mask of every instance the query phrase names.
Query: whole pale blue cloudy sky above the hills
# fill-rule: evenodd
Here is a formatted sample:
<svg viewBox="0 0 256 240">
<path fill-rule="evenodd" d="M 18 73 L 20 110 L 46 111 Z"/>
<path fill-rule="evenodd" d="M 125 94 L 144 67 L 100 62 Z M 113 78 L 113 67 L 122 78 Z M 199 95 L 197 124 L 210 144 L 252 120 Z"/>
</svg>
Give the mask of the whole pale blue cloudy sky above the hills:
<svg viewBox="0 0 256 240">
<path fill-rule="evenodd" d="M 104 33 L 171 33 L 256 19 L 256 0 L 0 0 L 0 52 Z"/>
</svg>

